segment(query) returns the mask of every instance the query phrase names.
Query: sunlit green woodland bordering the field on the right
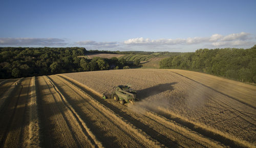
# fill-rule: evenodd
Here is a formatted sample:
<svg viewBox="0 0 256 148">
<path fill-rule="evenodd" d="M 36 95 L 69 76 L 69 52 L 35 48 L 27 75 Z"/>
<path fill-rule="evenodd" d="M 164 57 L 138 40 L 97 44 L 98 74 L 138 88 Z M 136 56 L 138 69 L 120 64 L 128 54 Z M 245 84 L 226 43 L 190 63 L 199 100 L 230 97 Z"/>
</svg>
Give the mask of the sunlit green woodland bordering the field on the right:
<svg viewBox="0 0 256 148">
<path fill-rule="evenodd" d="M 256 45 L 250 49 L 199 49 L 164 58 L 160 68 L 193 70 L 256 83 Z"/>
</svg>

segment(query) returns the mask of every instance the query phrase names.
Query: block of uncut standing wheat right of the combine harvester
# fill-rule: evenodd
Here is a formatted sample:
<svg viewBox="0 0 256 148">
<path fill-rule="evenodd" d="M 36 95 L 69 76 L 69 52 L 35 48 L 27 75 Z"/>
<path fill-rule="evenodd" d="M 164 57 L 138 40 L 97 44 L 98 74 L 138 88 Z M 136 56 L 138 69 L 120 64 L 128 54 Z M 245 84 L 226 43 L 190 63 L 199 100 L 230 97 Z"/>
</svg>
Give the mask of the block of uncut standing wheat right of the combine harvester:
<svg viewBox="0 0 256 148">
<path fill-rule="evenodd" d="M 113 70 L 65 75 L 100 94 L 110 92 L 114 85 L 130 83 L 141 99 L 134 105 L 137 108 L 172 110 L 188 121 L 224 131 L 226 137 L 234 136 L 248 142 L 254 140 L 254 108 L 168 70 Z"/>
</svg>

